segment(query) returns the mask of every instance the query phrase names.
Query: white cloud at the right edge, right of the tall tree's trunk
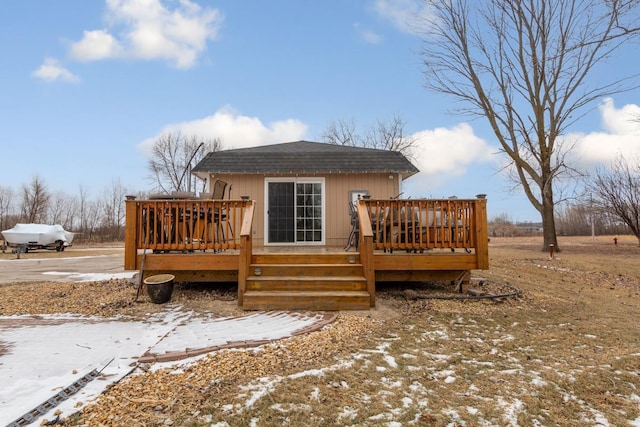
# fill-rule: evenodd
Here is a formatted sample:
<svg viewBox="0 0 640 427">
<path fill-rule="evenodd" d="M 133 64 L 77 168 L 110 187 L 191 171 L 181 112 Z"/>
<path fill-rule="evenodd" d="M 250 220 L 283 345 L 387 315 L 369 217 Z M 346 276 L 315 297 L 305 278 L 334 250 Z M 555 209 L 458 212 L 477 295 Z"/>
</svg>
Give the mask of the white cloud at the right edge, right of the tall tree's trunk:
<svg viewBox="0 0 640 427">
<path fill-rule="evenodd" d="M 575 155 L 585 169 L 607 164 L 618 155 L 640 157 L 640 106 L 628 104 L 616 108 L 613 99 L 600 105 L 603 131 L 576 133 L 566 138 L 577 140 Z"/>
</svg>

